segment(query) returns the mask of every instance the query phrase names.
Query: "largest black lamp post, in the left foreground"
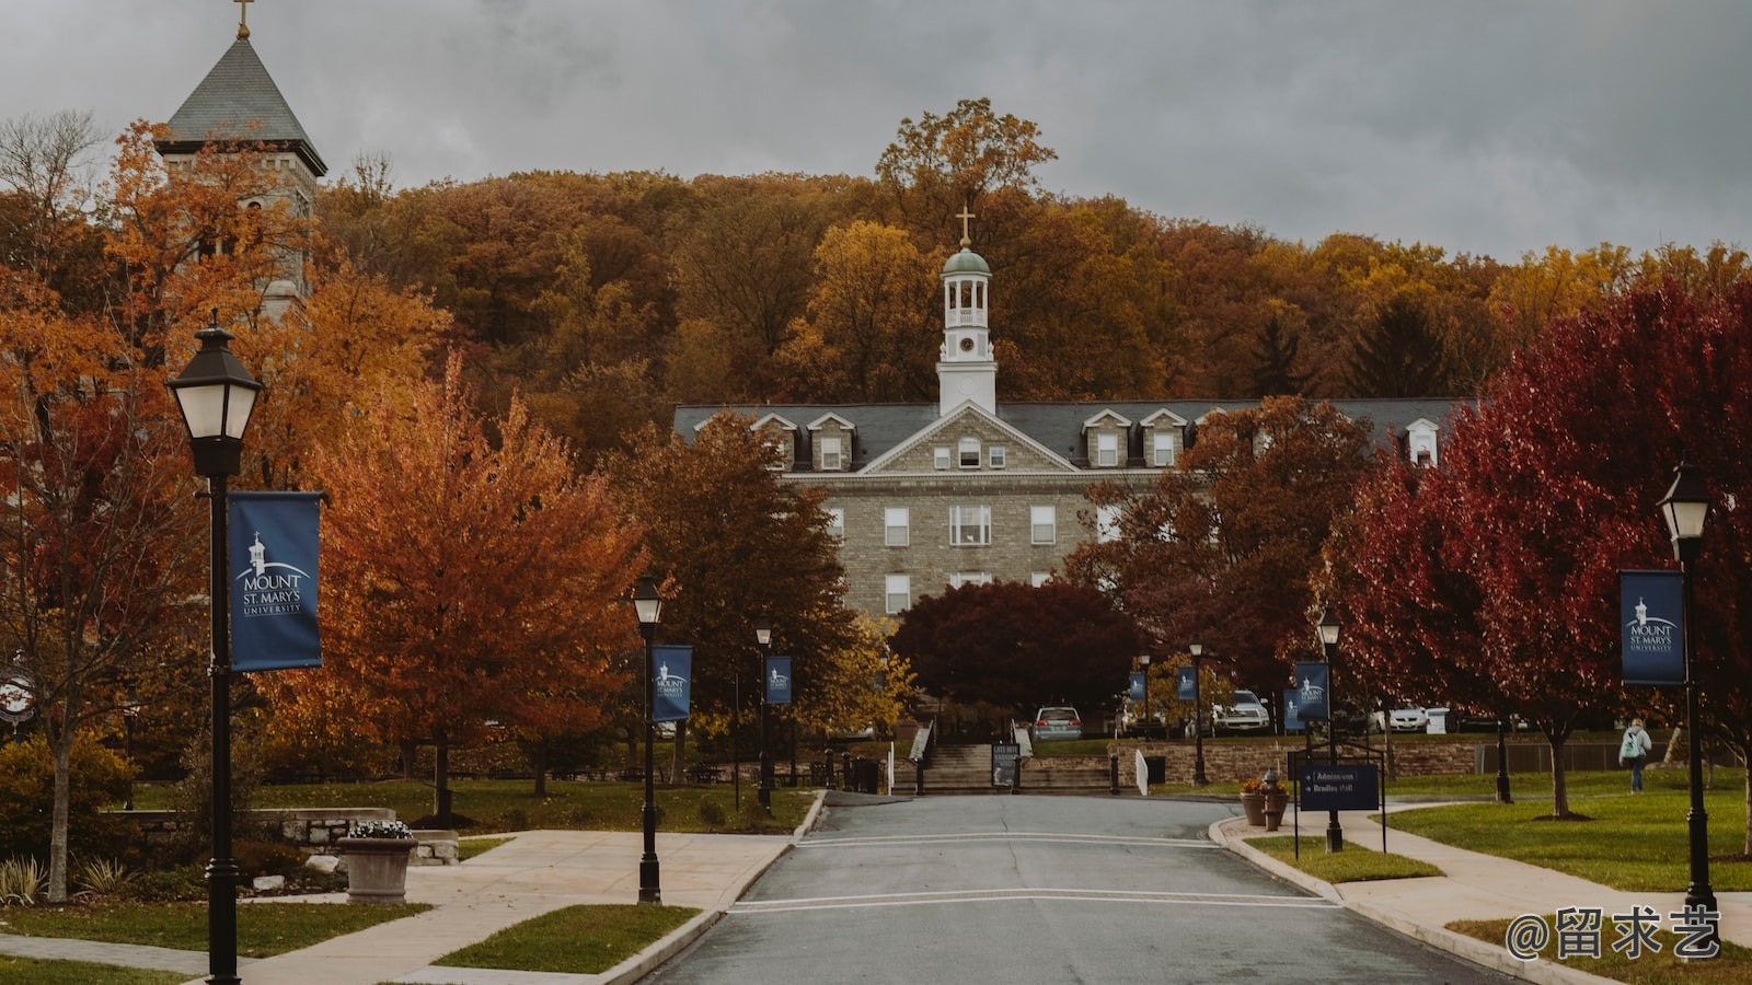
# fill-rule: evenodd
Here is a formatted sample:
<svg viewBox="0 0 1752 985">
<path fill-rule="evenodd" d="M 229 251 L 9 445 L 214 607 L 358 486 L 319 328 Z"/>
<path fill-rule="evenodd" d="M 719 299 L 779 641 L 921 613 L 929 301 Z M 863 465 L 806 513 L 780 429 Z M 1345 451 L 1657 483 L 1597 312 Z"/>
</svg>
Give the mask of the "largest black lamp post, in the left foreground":
<svg viewBox="0 0 1752 985">
<path fill-rule="evenodd" d="M 194 471 L 207 478 L 212 526 L 212 771 L 214 857 L 207 862 L 207 981 L 228 985 L 237 976 L 237 862 L 231 859 L 231 580 L 226 577 L 226 480 L 244 463 L 244 428 L 261 384 L 231 354 L 231 333 L 212 322 L 196 331 L 200 351 L 170 393 L 182 410 L 194 452 Z"/>
</svg>

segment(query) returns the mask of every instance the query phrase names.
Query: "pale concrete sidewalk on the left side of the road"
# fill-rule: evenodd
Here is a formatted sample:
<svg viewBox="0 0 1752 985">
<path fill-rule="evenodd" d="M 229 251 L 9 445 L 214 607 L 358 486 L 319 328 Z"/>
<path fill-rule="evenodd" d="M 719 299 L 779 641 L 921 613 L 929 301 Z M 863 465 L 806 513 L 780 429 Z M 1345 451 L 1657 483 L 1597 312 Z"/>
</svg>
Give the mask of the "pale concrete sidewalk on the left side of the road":
<svg viewBox="0 0 1752 985">
<path fill-rule="evenodd" d="M 801 831 L 813 824 L 820 797 Z M 636 831 L 526 831 L 492 852 L 461 866 L 408 869 L 408 903 L 433 910 L 378 924 L 357 934 L 266 957 L 240 959 L 238 976 L 249 985 L 585 985 L 632 981 L 704 932 L 794 838 L 757 834 L 657 834 L 662 901 L 697 906 L 701 915 L 604 974 L 541 974 L 473 967 L 434 967 L 431 962 L 496 931 L 550 910 L 580 903 L 636 903 L 643 836 Z M 345 894 L 301 897 L 312 904 L 345 904 Z M 249 903 L 238 920 L 247 920 Z M 130 967 L 159 967 L 207 976 L 205 952 L 179 952 L 0 934 L 0 953 L 96 960 Z"/>
</svg>

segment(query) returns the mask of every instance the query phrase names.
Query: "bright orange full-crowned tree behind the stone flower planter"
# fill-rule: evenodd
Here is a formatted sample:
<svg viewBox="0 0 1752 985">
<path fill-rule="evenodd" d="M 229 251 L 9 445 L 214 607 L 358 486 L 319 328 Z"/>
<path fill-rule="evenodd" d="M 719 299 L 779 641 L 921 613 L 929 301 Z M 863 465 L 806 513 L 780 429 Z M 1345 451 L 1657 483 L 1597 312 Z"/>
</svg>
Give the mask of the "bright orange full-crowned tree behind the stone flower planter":
<svg viewBox="0 0 1752 985">
<path fill-rule="evenodd" d="M 484 419 L 452 356 L 408 408 L 366 400 L 314 471 L 333 503 L 324 666 L 263 675 L 275 727 L 434 743 L 449 827 L 449 750 L 489 719 L 533 741 L 603 720 L 639 529 L 522 401 Z"/>
</svg>

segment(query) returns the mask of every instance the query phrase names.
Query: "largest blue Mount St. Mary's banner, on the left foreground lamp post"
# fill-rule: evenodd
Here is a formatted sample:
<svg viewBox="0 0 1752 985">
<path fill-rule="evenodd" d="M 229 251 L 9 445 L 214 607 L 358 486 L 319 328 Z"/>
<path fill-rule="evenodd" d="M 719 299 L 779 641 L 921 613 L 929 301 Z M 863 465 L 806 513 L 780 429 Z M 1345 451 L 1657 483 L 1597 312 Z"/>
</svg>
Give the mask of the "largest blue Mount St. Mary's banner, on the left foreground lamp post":
<svg viewBox="0 0 1752 985">
<path fill-rule="evenodd" d="M 231 670 L 319 668 L 321 492 L 226 496 Z"/>
</svg>

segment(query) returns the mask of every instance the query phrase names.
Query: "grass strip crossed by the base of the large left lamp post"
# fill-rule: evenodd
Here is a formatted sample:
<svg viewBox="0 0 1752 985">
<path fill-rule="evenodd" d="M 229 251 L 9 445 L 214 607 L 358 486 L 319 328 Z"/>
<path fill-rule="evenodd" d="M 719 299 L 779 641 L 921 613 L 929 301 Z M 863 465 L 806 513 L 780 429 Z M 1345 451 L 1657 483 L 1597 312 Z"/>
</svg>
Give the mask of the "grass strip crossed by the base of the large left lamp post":
<svg viewBox="0 0 1752 985">
<path fill-rule="evenodd" d="M 237 953 L 273 957 L 329 938 L 352 934 L 431 910 L 426 903 L 396 906 L 315 906 L 251 903 L 238 906 Z M 205 903 L 105 903 L 100 906 L 14 906 L 0 915 L 5 931 L 32 938 L 75 938 L 117 945 L 207 950 Z"/>
</svg>

